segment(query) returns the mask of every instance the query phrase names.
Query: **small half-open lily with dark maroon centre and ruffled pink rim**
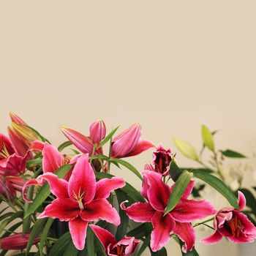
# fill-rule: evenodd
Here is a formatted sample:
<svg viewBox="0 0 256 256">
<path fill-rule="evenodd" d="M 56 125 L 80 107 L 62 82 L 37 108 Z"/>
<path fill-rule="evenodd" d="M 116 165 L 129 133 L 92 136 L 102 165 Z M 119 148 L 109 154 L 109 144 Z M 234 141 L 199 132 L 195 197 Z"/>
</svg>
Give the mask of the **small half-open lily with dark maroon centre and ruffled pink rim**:
<svg viewBox="0 0 256 256">
<path fill-rule="evenodd" d="M 160 144 L 157 147 L 157 151 L 153 152 L 153 163 L 154 166 L 151 164 L 145 165 L 145 170 L 153 170 L 154 172 L 160 173 L 162 176 L 167 176 L 169 173 L 169 165 L 173 159 L 173 154 L 170 148 L 165 149 Z"/>
</svg>

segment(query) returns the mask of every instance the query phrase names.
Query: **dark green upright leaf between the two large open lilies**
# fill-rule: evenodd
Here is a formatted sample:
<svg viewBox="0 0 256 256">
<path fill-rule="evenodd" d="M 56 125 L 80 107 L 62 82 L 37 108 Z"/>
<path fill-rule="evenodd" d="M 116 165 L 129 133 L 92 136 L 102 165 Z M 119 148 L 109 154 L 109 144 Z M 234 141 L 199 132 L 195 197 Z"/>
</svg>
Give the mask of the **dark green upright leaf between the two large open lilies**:
<svg viewBox="0 0 256 256">
<path fill-rule="evenodd" d="M 120 241 L 127 233 L 127 228 L 129 225 L 129 217 L 126 212 L 121 209 L 120 204 L 127 200 L 127 194 L 123 192 L 121 189 L 116 189 L 116 197 L 118 200 L 119 206 L 119 216 L 121 219 L 121 224 L 118 226 L 116 230 L 116 241 Z"/>
</svg>

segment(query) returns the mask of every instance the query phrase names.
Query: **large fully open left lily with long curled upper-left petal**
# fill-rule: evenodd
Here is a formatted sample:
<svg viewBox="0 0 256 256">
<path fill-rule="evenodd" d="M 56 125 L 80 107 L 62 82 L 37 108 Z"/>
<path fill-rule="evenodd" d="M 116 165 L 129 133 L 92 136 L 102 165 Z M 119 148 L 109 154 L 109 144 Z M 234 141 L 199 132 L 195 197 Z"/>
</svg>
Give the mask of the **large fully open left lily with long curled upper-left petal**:
<svg viewBox="0 0 256 256">
<path fill-rule="evenodd" d="M 96 182 L 88 154 L 79 157 L 69 181 L 58 178 L 53 173 L 44 173 L 23 187 L 23 198 L 30 185 L 42 186 L 45 181 L 50 184 L 50 191 L 56 199 L 45 207 L 39 219 L 51 217 L 69 222 L 69 231 L 77 249 L 82 250 L 86 241 L 86 230 L 89 222 L 99 219 L 120 224 L 120 217 L 107 198 L 114 189 L 124 187 L 123 178 L 102 178 Z M 31 201 L 30 201 L 31 202 Z"/>
</svg>

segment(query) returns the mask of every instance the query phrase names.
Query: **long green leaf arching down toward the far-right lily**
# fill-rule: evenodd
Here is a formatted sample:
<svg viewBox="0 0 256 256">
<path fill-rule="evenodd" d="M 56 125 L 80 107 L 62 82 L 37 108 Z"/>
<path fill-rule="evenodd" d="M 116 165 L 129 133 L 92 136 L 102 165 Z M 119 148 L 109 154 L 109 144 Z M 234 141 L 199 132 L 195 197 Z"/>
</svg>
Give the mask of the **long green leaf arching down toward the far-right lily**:
<svg viewBox="0 0 256 256">
<path fill-rule="evenodd" d="M 193 170 L 192 173 L 196 178 L 199 178 L 200 180 L 206 182 L 211 187 L 216 189 L 221 195 L 223 195 L 223 197 L 227 199 L 231 206 L 239 208 L 236 196 L 233 194 L 230 187 L 227 187 L 227 185 L 222 180 L 216 176 L 211 175 L 210 173 L 203 172 L 202 170 Z"/>
</svg>

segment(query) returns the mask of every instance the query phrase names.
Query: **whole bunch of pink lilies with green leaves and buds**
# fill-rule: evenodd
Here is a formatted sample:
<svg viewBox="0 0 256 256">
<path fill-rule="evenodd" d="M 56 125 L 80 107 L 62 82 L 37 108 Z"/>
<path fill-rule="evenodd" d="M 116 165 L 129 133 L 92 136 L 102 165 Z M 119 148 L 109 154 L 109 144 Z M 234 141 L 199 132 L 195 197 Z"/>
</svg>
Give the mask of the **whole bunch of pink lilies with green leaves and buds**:
<svg viewBox="0 0 256 256">
<path fill-rule="evenodd" d="M 195 148 L 176 139 L 182 154 L 203 165 L 182 168 L 170 148 L 141 139 L 140 124 L 106 135 L 98 119 L 89 136 L 61 127 L 67 141 L 56 148 L 19 116 L 10 116 L 9 136 L 0 134 L 0 256 L 9 250 L 41 256 L 145 255 L 146 250 L 167 255 L 170 239 L 182 255 L 198 255 L 195 227 L 200 225 L 212 229 L 205 244 L 222 237 L 233 243 L 256 238 L 255 197 L 225 184 L 214 132 L 205 126 L 203 150 L 212 152 L 214 165 L 203 164 Z M 124 160 L 149 149 L 153 160 L 142 171 Z M 220 154 L 241 157 L 235 151 Z M 113 166 L 140 179 L 140 192 L 121 178 L 121 171 L 113 176 Z M 203 182 L 200 188 L 197 181 Z M 202 186 L 216 189 L 227 206 L 216 209 L 198 197 Z M 246 199 L 249 211 L 244 211 Z"/>
</svg>

